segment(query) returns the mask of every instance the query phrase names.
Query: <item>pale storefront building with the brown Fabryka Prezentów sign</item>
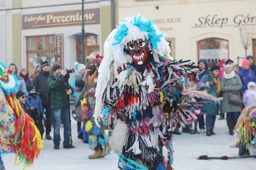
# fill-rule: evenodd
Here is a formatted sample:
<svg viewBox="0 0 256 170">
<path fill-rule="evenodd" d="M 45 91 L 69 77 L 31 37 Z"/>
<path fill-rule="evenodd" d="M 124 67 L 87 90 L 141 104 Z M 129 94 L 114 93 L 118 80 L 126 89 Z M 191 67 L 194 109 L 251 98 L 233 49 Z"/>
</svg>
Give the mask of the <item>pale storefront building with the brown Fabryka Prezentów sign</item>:
<svg viewBox="0 0 256 170">
<path fill-rule="evenodd" d="M 15 5 L 17 9 L 14 9 Z M 13 62 L 18 69 L 25 67 L 29 74 L 33 73 L 35 64 L 43 61 L 59 63 L 67 69 L 74 68 L 76 61 L 84 63 L 81 55 L 82 17 L 85 57 L 91 52 L 102 53 L 104 41 L 111 32 L 110 0 L 86 1 L 84 16 L 80 0 L 13 0 L 10 7 L 11 10 L 5 6 L 5 10 L 0 11 L 0 19 L 1 16 L 5 19 L 5 37 L 0 33 L 0 40 L 5 39 L 4 42 L 1 40 L 1 61 L 6 65 Z M 12 32 L 6 34 L 10 29 Z"/>
</svg>

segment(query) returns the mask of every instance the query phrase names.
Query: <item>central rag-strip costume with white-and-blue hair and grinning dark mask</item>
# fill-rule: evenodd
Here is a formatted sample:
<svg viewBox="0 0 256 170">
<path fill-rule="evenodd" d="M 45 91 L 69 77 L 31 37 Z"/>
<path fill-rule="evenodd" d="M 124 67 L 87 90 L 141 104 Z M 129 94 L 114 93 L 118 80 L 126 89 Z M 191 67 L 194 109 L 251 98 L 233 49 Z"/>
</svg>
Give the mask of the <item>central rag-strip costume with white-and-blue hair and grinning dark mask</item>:
<svg viewBox="0 0 256 170">
<path fill-rule="evenodd" d="M 174 61 L 152 21 L 125 18 L 104 44 L 96 89 L 95 120 L 111 132 L 120 169 L 170 170 L 172 132 L 195 121 L 197 64 Z"/>
</svg>

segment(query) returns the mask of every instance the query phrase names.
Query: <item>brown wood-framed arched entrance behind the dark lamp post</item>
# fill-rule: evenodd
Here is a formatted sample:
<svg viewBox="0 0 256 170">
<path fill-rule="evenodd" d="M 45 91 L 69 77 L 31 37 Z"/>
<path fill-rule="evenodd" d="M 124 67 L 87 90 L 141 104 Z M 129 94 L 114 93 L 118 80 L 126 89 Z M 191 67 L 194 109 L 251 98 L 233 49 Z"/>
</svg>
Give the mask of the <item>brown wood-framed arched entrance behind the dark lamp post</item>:
<svg viewBox="0 0 256 170">
<path fill-rule="evenodd" d="M 81 35 L 76 35 L 76 61 L 79 63 L 85 63 L 82 61 L 82 41 Z M 85 58 L 90 53 L 100 52 L 100 36 L 96 34 L 85 34 Z"/>
</svg>

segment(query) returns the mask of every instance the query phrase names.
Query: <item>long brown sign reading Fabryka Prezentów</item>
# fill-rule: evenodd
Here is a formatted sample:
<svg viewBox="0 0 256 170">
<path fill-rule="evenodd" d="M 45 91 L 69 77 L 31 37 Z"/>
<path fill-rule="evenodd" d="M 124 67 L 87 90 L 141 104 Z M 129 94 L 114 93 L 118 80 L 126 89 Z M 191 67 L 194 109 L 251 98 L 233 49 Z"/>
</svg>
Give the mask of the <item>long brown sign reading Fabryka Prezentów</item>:
<svg viewBox="0 0 256 170">
<path fill-rule="evenodd" d="M 81 10 L 22 15 L 22 29 L 74 26 L 82 23 Z M 99 24 L 100 9 L 84 11 L 84 24 Z"/>
</svg>

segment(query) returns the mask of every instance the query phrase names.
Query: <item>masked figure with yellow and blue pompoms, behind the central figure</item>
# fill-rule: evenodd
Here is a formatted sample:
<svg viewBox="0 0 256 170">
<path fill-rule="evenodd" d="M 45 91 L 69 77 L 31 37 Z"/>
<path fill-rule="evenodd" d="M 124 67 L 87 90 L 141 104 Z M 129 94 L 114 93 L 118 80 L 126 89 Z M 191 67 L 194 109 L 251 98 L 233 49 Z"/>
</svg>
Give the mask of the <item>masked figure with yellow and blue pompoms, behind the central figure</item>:
<svg viewBox="0 0 256 170">
<path fill-rule="evenodd" d="M 82 120 L 85 125 L 85 131 L 89 133 L 89 146 L 95 151 L 93 155 L 89 155 L 90 159 L 102 158 L 106 155 L 105 136 L 103 126 L 100 128 L 95 124 L 95 90 L 98 81 L 98 67 L 103 56 L 92 53 L 86 57 L 87 65 L 84 74 L 84 88 L 80 94 L 81 106 L 83 110 Z M 102 121 L 99 122 L 102 124 Z M 104 149 L 103 149 L 104 147 Z M 108 149 L 110 151 L 110 147 Z"/>
</svg>

